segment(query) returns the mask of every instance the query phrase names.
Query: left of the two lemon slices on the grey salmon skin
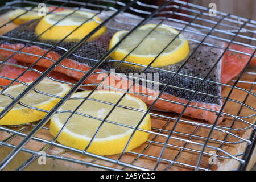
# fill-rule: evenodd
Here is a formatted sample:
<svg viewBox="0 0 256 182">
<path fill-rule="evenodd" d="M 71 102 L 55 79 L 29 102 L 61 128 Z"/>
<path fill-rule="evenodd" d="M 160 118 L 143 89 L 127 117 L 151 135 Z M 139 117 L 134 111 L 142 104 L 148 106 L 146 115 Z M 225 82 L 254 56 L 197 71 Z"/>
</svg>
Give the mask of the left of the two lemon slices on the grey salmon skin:
<svg viewBox="0 0 256 182">
<path fill-rule="evenodd" d="M 71 13 L 73 13 L 72 10 L 61 11 L 58 13 L 46 15 L 42 20 L 40 20 L 40 22 L 36 26 L 36 34 L 42 34 L 42 32 L 46 31 L 49 28 L 46 32 L 40 35 L 40 39 L 61 40 L 65 38 L 65 36 L 70 34 L 72 31 L 74 31 L 75 28 L 80 26 L 79 28 L 77 28 L 77 30 L 72 32 L 72 34 L 65 39 L 75 41 L 84 38 L 84 36 L 88 35 L 101 22 L 101 19 L 95 16 L 94 13 L 86 11 L 75 11 L 75 13 Z M 65 16 L 67 17 L 64 18 Z M 57 23 L 59 20 L 60 22 Z M 86 20 L 88 20 L 88 22 L 84 23 Z M 55 26 L 53 26 L 53 24 L 55 24 Z M 90 39 L 95 38 L 101 34 L 104 34 L 105 31 L 106 27 L 100 28 L 100 30 L 93 34 L 90 37 Z"/>
</svg>

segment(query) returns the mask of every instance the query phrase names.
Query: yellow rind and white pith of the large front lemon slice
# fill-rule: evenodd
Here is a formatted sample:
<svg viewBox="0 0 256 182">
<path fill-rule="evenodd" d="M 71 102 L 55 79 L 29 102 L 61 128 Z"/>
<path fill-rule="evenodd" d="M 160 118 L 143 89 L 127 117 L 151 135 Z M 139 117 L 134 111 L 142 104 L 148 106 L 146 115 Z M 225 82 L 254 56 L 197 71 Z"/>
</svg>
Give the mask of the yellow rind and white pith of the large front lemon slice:
<svg viewBox="0 0 256 182">
<path fill-rule="evenodd" d="M 90 91 L 84 91 L 84 92 L 90 92 Z M 101 93 L 113 93 L 114 91 L 96 91 Z M 117 93 L 117 92 L 115 92 Z M 120 94 L 123 94 L 120 92 Z M 81 97 L 84 95 L 86 97 L 86 94 L 82 93 L 76 93 L 75 96 L 72 97 Z M 143 105 L 143 110 L 147 109 L 146 104 L 141 101 L 139 98 L 135 98 L 134 96 L 131 96 L 129 94 L 129 97 L 132 99 L 135 99 L 137 102 L 140 103 L 140 105 Z M 142 102 L 142 103 L 141 103 Z M 140 108 L 141 109 L 141 108 Z M 53 136 L 56 137 L 56 135 L 59 133 L 61 127 L 63 124 L 59 121 L 59 118 L 57 115 L 53 115 L 51 119 L 51 125 L 50 125 L 50 132 Z M 134 126 L 135 127 L 135 126 Z M 146 115 L 146 117 L 143 119 L 141 125 L 139 126 L 140 129 L 143 130 L 151 130 L 151 121 L 150 121 L 150 115 Z M 123 148 L 125 147 L 126 142 L 130 138 L 130 135 L 133 133 L 134 129 L 129 129 L 123 134 L 119 135 L 113 135 L 110 137 L 105 138 L 94 138 L 93 142 L 91 143 L 90 147 L 88 148 L 88 152 L 91 152 L 93 154 L 97 155 L 113 155 L 113 154 L 119 154 L 123 151 Z M 135 131 L 133 138 L 131 138 L 130 143 L 126 149 L 126 151 L 133 150 L 133 148 L 140 146 L 142 143 L 146 142 L 148 139 L 150 133 L 146 131 Z M 72 136 L 72 137 L 71 137 Z M 61 144 L 64 144 L 69 147 L 74 147 L 79 150 L 84 150 L 86 146 L 88 146 L 90 140 L 92 138 L 86 137 L 84 135 L 79 135 L 72 133 L 72 131 L 69 131 L 68 129 L 64 128 L 59 137 L 57 138 L 57 141 Z M 113 143 L 112 143 L 113 142 Z M 114 146 L 113 146 L 114 144 Z"/>
</svg>

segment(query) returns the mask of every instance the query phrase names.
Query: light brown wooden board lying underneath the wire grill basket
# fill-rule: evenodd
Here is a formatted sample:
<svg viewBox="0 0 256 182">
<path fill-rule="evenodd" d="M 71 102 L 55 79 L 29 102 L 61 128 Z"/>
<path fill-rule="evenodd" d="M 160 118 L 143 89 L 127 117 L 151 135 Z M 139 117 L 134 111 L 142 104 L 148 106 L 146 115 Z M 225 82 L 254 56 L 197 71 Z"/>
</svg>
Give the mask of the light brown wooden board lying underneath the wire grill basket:
<svg viewBox="0 0 256 182">
<path fill-rule="evenodd" d="M 3 15 L 0 17 L 0 22 L 5 23 L 8 19 L 6 18 L 6 15 Z M 3 34 L 6 31 L 9 31 L 16 27 L 18 25 L 14 23 L 9 23 L 7 26 L 3 27 L 0 29 L 0 34 Z M 1 56 L 1 55 L 0 55 Z M 3 58 L 3 57 L 2 57 Z M 0 57 L 1 59 L 1 57 Z M 251 68 L 253 69 L 253 68 Z M 250 70 L 249 70 L 250 71 Z M 248 72 L 249 72 L 248 71 Z M 255 69 L 254 69 L 255 72 Z M 241 80 L 243 81 L 255 81 L 256 75 L 250 75 L 246 73 L 245 75 L 242 76 Z M 229 83 L 230 85 L 233 84 L 233 82 Z M 253 87 L 251 88 L 251 84 L 238 84 L 241 88 L 244 89 L 251 89 L 251 92 L 256 93 L 256 88 Z M 230 88 L 224 88 L 222 91 L 222 96 L 227 96 L 229 93 Z M 231 98 L 233 100 L 237 101 L 245 101 L 245 98 L 247 97 L 247 93 L 243 92 L 241 90 L 235 89 L 232 93 Z M 249 105 L 251 107 L 255 107 L 256 103 L 256 98 L 253 96 L 247 97 L 247 100 L 245 101 L 246 105 Z M 229 114 L 234 114 L 237 115 L 238 111 L 241 109 L 240 104 L 234 104 L 234 102 L 229 101 L 228 104 L 225 107 L 225 112 Z M 163 115 L 167 115 L 170 117 L 175 117 L 177 118 L 178 115 L 174 113 L 160 113 Z M 247 107 L 242 107 L 240 111 L 240 115 L 246 116 L 246 115 L 251 115 L 255 114 L 254 111 L 248 109 Z M 195 121 L 196 123 L 204 123 L 204 121 L 199 121 L 196 119 L 191 119 L 188 117 L 183 117 L 182 119 L 187 119 L 188 121 Z M 159 132 L 158 129 L 164 129 L 164 130 L 171 130 L 172 127 L 174 126 L 175 121 L 173 120 L 168 120 L 168 119 L 163 119 L 163 118 L 156 118 L 156 117 L 151 117 L 152 120 L 152 131 Z M 255 117 L 247 118 L 245 119 L 246 121 L 250 123 L 255 123 Z M 219 126 L 220 127 L 230 127 L 233 123 L 233 119 L 226 118 L 225 122 L 222 122 Z M 246 123 L 236 121 L 234 122 L 233 129 L 244 129 L 248 127 Z M 46 128 L 48 127 L 48 123 L 45 126 Z M 32 126 L 21 126 L 17 128 L 12 128 L 13 130 L 22 130 L 22 133 L 29 133 L 31 131 Z M 204 143 L 205 139 L 203 137 L 207 137 L 209 134 L 209 129 L 205 127 L 197 127 L 196 125 L 191 125 L 189 123 L 184 123 L 184 122 L 179 122 L 176 126 L 176 129 L 174 130 L 176 133 L 174 133 L 172 136 L 173 137 L 179 137 L 182 139 L 188 139 L 193 142 L 199 142 L 199 143 Z M 166 131 L 162 131 L 163 134 L 168 134 Z M 183 134 L 177 134 L 177 133 L 183 133 Z M 249 138 L 251 134 L 251 129 L 249 130 L 241 130 L 241 131 L 236 131 L 236 130 L 231 130 L 230 133 L 236 134 L 239 137 L 242 138 Z M 192 134 L 194 137 L 189 138 L 188 135 L 186 134 Z M 10 137 L 11 134 L 5 132 L 5 131 L 0 131 L 0 140 L 4 140 L 8 137 Z M 195 137 L 195 136 L 200 136 Z M 37 134 L 36 137 L 51 140 L 53 137 L 49 133 L 48 129 L 41 129 Z M 222 131 L 217 131 L 215 130 L 212 135 L 211 139 L 208 142 L 208 145 L 210 146 L 215 146 L 215 147 L 220 147 L 220 142 L 217 142 L 217 140 L 223 140 L 226 137 L 226 133 Z M 17 137 L 15 136 L 12 138 L 9 143 L 13 144 L 16 146 L 17 144 L 20 143 L 22 140 L 22 137 Z M 165 137 L 156 137 L 155 135 L 150 135 L 150 141 L 142 144 L 142 146 L 139 146 L 135 148 L 132 152 L 128 152 L 123 157 L 121 158 L 121 162 L 125 163 L 130 163 L 135 166 L 147 168 L 147 169 L 154 169 L 155 164 L 156 164 L 156 158 L 158 158 L 160 151 L 162 150 L 162 144 L 165 142 L 166 138 Z M 228 152 L 229 154 L 236 155 L 239 154 L 240 152 L 245 151 L 246 143 L 232 143 L 232 142 L 238 142 L 240 139 L 233 137 L 232 135 L 229 135 L 226 138 L 226 142 L 229 143 L 224 143 L 223 146 L 221 147 L 222 150 Z M 195 150 L 201 150 L 201 147 L 192 144 L 192 143 L 185 143 L 184 141 L 181 140 L 176 140 L 176 139 L 170 139 L 168 144 L 169 146 L 166 147 L 166 150 L 164 151 L 163 154 L 163 159 L 161 160 L 158 170 L 164 170 L 164 169 L 169 169 L 169 170 L 193 170 L 193 167 L 189 167 L 188 165 L 193 165 L 195 166 L 197 163 L 197 159 L 199 158 L 199 153 L 195 152 Z M 35 140 L 30 140 L 26 144 L 26 148 L 34 151 L 40 151 L 42 147 L 46 146 L 44 143 L 36 142 Z M 189 148 L 190 150 L 180 150 L 180 148 L 185 147 Z M 0 146 L 0 161 L 4 159 L 9 152 L 12 150 L 12 148 L 9 147 L 3 147 Z M 192 151 L 194 150 L 194 151 Z M 52 154 L 52 155 L 57 155 L 60 157 L 65 157 L 65 158 L 70 158 L 70 159 L 79 159 L 84 162 L 90 162 L 93 164 L 100 164 L 103 166 L 108 166 L 112 168 L 117 168 L 117 169 L 131 169 L 131 168 L 123 168 L 123 166 L 118 165 L 118 164 L 113 164 L 110 162 L 106 162 L 104 160 L 100 159 L 95 159 L 91 158 L 89 156 L 77 154 L 75 152 L 70 152 L 70 151 L 65 151 L 61 148 L 57 147 L 49 147 L 46 150 L 47 154 Z M 142 155 L 137 158 L 137 155 L 133 154 L 133 152 L 138 152 L 142 153 Z M 210 148 L 205 148 L 205 152 L 214 152 L 214 150 Z M 226 156 L 223 152 L 218 152 L 218 155 Z M 11 163 L 5 168 L 6 170 L 11 170 L 11 169 L 16 169 L 17 167 L 20 166 L 21 163 L 26 161 L 28 158 L 30 158 L 32 155 L 28 154 L 26 152 L 19 152 L 19 154 L 14 158 L 14 160 L 11 161 Z M 112 156 L 106 156 L 110 159 L 117 159 L 119 155 L 112 155 Z M 152 156 L 151 158 L 148 156 Z M 135 160 L 137 158 L 137 160 Z M 213 169 L 213 170 L 232 170 L 236 169 L 238 167 L 238 162 L 234 159 L 221 159 L 218 158 L 217 164 L 213 164 L 209 166 L 209 158 L 210 156 L 208 154 L 204 155 L 200 167 L 202 168 L 208 168 Z M 241 158 L 241 156 L 240 156 Z M 170 160 L 175 160 L 174 164 L 170 163 Z M 256 162 L 256 150 L 253 152 L 253 156 L 251 157 L 250 163 L 247 167 L 247 169 L 251 169 L 253 164 Z M 182 164 L 188 164 L 187 166 L 184 166 Z M 26 170 L 99 170 L 99 168 L 92 167 L 92 166 L 86 166 L 78 163 L 72 163 L 72 162 L 67 162 L 64 160 L 60 159 L 52 159 L 52 158 L 47 158 L 46 159 L 46 164 L 39 164 L 38 159 L 34 160 L 27 168 Z"/>
</svg>

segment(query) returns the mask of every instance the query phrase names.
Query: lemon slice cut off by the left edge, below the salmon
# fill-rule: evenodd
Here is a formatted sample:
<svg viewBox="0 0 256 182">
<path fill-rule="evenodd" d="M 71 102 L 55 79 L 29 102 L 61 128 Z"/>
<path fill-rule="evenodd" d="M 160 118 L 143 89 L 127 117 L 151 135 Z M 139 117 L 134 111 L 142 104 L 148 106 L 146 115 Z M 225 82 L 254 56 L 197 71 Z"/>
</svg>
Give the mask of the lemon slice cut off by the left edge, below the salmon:
<svg viewBox="0 0 256 182">
<path fill-rule="evenodd" d="M 30 84 L 28 82 L 27 84 Z M 18 84 L 10 86 L 3 93 L 9 94 L 10 96 L 18 96 L 27 86 Z M 55 81 L 42 81 L 35 86 L 35 89 L 40 92 L 52 94 L 55 96 L 64 96 L 65 93 L 70 89 L 68 84 L 60 84 Z M 0 95 L 0 111 L 2 111 L 10 102 L 13 101 L 10 97 Z M 22 98 L 21 102 L 28 106 L 36 107 L 44 110 L 51 110 L 52 107 L 59 101 L 59 98 L 47 96 L 43 93 L 38 93 L 32 90 L 25 97 Z M 29 109 L 20 104 L 13 107 L 2 119 L 0 119 L 0 125 L 20 125 L 28 122 L 38 121 L 42 119 L 47 113 Z"/>
</svg>

